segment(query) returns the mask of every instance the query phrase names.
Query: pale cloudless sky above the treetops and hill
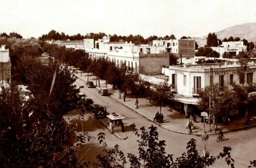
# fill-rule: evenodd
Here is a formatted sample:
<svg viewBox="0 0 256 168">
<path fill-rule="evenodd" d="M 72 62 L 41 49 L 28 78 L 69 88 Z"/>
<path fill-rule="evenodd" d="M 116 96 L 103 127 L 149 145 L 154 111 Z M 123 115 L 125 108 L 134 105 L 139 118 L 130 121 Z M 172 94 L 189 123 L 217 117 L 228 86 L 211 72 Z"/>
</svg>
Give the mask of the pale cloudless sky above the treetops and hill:
<svg viewBox="0 0 256 168">
<path fill-rule="evenodd" d="M 0 0 L 0 33 L 201 37 L 256 22 L 254 0 Z"/>
</svg>

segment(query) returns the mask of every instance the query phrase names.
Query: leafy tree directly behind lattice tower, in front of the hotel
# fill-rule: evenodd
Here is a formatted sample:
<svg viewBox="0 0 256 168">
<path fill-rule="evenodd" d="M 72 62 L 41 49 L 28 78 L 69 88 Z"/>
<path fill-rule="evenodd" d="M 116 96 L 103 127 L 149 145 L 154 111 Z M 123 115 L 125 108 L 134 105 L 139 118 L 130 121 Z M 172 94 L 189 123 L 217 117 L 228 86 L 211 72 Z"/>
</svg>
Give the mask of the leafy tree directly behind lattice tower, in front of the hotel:
<svg viewBox="0 0 256 168">
<path fill-rule="evenodd" d="M 218 129 L 218 117 L 235 115 L 238 113 L 237 104 L 238 97 L 237 95 L 230 90 L 220 91 L 219 84 L 215 83 L 213 85 L 213 113 L 214 117 L 216 117 L 216 128 Z M 205 86 L 204 89 L 199 91 L 200 100 L 198 101 L 198 107 L 200 110 L 209 112 L 209 95 L 210 94 L 210 86 Z"/>
</svg>

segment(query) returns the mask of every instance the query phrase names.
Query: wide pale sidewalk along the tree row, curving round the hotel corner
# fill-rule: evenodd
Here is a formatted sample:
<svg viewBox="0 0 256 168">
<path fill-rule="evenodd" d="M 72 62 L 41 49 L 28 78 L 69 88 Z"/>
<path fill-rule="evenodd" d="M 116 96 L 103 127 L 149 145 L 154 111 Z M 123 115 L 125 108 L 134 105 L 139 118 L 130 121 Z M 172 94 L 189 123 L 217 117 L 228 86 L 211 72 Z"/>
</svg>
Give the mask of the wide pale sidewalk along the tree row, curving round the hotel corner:
<svg viewBox="0 0 256 168">
<path fill-rule="evenodd" d="M 80 71 L 78 71 L 78 73 L 76 73 L 75 75 L 81 78 L 82 80 L 87 81 L 87 73 L 82 73 L 82 77 L 81 77 Z M 95 84 L 96 77 L 93 76 L 92 74 L 89 74 L 89 80 L 93 81 L 93 83 Z M 97 81 L 97 84 L 98 84 L 98 81 Z M 100 86 L 101 87 L 97 86 L 96 88 L 99 90 L 100 88 L 106 88 L 106 81 L 101 80 Z M 112 86 L 110 84 L 107 84 L 107 88 L 109 91 L 109 96 L 116 99 L 117 101 L 124 104 L 125 106 L 129 107 L 130 109 L 134 110 L 135 112 L 140 113 L 142 116 L 144 116 L 145 118 L 147 118 L 152 122 L 154 122 L 153 119 L 156 115 L 156 112 L 159 111 L 160 113 L 160 107 L 156 105 L 156 103 L 151 102 L 150 104 L 149 100 L 143 96 L 138 97 L 139 106 L 138 106 L 138 109 L 136 109 L 135 95 L 126 95 L 125 102 L 124 102 L 122 93 L 121 93 L 121 99 L 119 99 L 118 90 L 112 90 Z M 173 109 L 171 110 L 169 106 L 166 106 L 166 105 L 162 106 L 161 112 L 164 115 L 164 122 L 158 125 L 173 132 L 188 134 L 189 130 L 186 129 L 188 118 L 186 118 L 184 114 L 181 114 Z M 222 123 L 218 123 L 218 130 L 222 129 L 223 133 L 227 133 L 227 132 L 237 131 L 237 130 L 246 129 L 250 127 L 256 127 L 256 116 L 251 118 L 251 124 L 252 125 L 248 126 L 248 125 L 245 125 L 245 119 L 239 119 L 239 120 L 236 119 L 236 120 L 228 121 L 228 125 L 223 125 Z M 202 135 L 204 130 L 204 123 L 201 122 L 201 117 L 197 118 L 196 123 L 193 122 L 193 127 L 194 129 L 192 129 L 191 135 L 198 135 L 198 136 Z M 209 132 L 208 124 L 205 124 L 205 130 L 208 132 L 207 133 L 208 135 L 218 134 L 219 132 L 218 130 L 216 130 L 216 133 Z"/>
</svg>

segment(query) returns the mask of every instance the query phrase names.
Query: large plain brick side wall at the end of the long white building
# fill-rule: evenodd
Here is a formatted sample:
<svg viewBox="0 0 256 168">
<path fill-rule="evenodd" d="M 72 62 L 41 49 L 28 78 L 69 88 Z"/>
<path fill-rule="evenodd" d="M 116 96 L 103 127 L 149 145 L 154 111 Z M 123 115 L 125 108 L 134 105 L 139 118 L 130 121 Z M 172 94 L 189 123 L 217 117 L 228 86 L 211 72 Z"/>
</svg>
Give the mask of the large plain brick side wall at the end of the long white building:
<svg viewBox="0 0 256 168">
<path fill-rule="evenodd" d="M 145 74 L 162 73 L 162 66 L 169 66 L 169 53 L 141 54 L 139 60 L 139 66 L 143 67 Z"/>
</svg>

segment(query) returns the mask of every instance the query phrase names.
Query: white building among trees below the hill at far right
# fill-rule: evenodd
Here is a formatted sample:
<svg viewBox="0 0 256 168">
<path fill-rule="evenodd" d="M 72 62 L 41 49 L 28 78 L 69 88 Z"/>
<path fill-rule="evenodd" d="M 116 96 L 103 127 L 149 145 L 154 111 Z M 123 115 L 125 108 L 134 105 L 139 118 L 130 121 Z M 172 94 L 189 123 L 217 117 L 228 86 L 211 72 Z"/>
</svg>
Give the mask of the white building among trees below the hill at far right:
<svg viewBox="0 0 256 168">
<path fill-rule="evenodd" d="M 228 42 L 222 42 L 221 47 L 211 47 L 213 51 L 216 51 L 220 53 L 220 56 L 224 52 L 230 53 L 232 56 L 236 56 L 242 51 L 246 51 L 246 46 L 244 46 L 243 41 L 228 41 Z"/>
</svg>

